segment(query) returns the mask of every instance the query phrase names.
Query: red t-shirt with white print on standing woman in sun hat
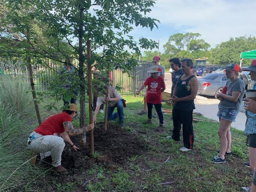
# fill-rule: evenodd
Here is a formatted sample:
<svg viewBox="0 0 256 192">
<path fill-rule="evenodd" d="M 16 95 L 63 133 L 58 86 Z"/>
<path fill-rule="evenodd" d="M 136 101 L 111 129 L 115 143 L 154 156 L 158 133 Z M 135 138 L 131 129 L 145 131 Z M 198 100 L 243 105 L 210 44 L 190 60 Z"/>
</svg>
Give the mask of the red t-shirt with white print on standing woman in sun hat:
<svg viewBox="0 0 256 192">
<path fill-rule="evenodd" d="M 161 89 L 165 88 L 164 80 L 161 76 L 157 79 L 147 77 L 144 85 L 147 85 L 146 102 L 153 104 L 160 104 L 162 102 Z"/>
</svg>

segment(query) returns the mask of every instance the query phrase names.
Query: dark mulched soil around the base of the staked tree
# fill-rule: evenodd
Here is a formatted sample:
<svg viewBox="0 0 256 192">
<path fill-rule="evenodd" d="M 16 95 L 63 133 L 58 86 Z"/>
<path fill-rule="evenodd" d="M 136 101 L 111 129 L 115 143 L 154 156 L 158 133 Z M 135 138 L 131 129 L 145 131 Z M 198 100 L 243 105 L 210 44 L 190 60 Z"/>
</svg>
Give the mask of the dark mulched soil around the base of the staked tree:
<svg viewBox="0 0 256 192">
<path fill-rule="evenodd" d="M 82 174 L 81 169 L 90 169 L 94 164 L 101 164 L 109 170 L 117 169 L 120 166 L 125 166 L 128 158 L 133 155 L 141 155 L 146 150 L 145 144 L 139 140 L 137 133 L 131 133 L 112 122 L 108 122 L 107 131 L 103 129 L 103 123 L 97 123 L 93 135 L 94 153 L 98 154 L 95 158 L 89 154 L 89 132 L 86 135 L 87 146 L 81 142 L 80 135 L 71 136 L 71 140 L 80 150 L 74 151 L 70 146 L 65 146 L 61 164 L 68 170 L 68 173 L 50 172 L 44 184 L 38 183 L 38 185 L 45 189 L 45 183 L 52 180 L 55 180 L 56 183 L 72 182 Z M 47 157 L 44 161 L 46 162 L 41 162 L 40 165 L 50 168 L 51 158 Z M 46 190 L 52 190 L 52 188 Z M 84 191 L 84 187 L 76 188 L 75 191 Z"/>
</svg>

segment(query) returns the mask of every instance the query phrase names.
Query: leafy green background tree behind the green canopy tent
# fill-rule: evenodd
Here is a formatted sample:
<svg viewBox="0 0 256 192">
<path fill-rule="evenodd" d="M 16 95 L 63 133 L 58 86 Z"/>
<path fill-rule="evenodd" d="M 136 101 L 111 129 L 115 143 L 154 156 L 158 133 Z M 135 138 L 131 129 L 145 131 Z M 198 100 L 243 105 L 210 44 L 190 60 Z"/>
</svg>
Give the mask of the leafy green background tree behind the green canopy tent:
<svg viewBox="0 0 256 192">
<path fill-rule="evenodd" d="M 255 36 L 231 37 L 228 41 L 221 42 L 211 49 L 211 63 L 227 65 L 240 62 L 240 53 L 254 50 L 256 47 Z M 251 60 L 244 59 L 243 65 L 249 65 Z"/>
</svg>

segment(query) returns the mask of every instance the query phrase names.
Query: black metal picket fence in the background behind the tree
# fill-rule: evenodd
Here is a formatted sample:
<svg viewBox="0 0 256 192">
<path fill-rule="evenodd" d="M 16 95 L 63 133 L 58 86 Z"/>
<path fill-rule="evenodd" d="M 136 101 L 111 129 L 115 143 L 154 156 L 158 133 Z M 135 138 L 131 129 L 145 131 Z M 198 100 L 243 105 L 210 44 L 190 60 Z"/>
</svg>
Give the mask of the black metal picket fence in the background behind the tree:
<svg viewBox="0 0 256 192">
<path fill-rule="evenodd" d="M 48 87 L 50 81 L 62 67 L 60 62 L 47 58 L 32 58 L 32 70 L 36 91 L 50 93 Z M 149 75 L 147 70 L 151 66 L 150 61 L 138 61 L 138 65 L 129 73 L 123 73 L 121 69 L 111 71 L 113 85 L 122 87 L 119 90 L 121 95 L 135 95 L 136 90 L 143 84 Z M 3 73 L 11 75 L 26 75 L 28 69 L 25 57 L 0 57 L 0 67 Z M 139 95 L 144 95 L 145 89 L 140 91 Z"/>
</svg>

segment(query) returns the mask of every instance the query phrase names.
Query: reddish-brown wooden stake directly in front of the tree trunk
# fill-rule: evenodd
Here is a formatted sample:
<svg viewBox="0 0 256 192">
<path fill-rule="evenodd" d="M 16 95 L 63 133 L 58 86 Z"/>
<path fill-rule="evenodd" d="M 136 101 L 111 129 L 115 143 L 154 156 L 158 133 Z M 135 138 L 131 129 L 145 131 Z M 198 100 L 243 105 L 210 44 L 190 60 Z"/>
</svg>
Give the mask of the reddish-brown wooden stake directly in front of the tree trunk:
<svg viewBox="0 0 256 192">
<path fill-rule="evenodd" d="M 88 94 L 89 94 L 89 124 L 93 122 L 92 119 L 92 79 L 91 79 L 91 51 L 90 51 L 90 40 L 87 40 L 87 76 L 88 76 Z M 93 129 L 90 130 L 90 154 L 94 153 L 94 138 Z"/>
</svg>

